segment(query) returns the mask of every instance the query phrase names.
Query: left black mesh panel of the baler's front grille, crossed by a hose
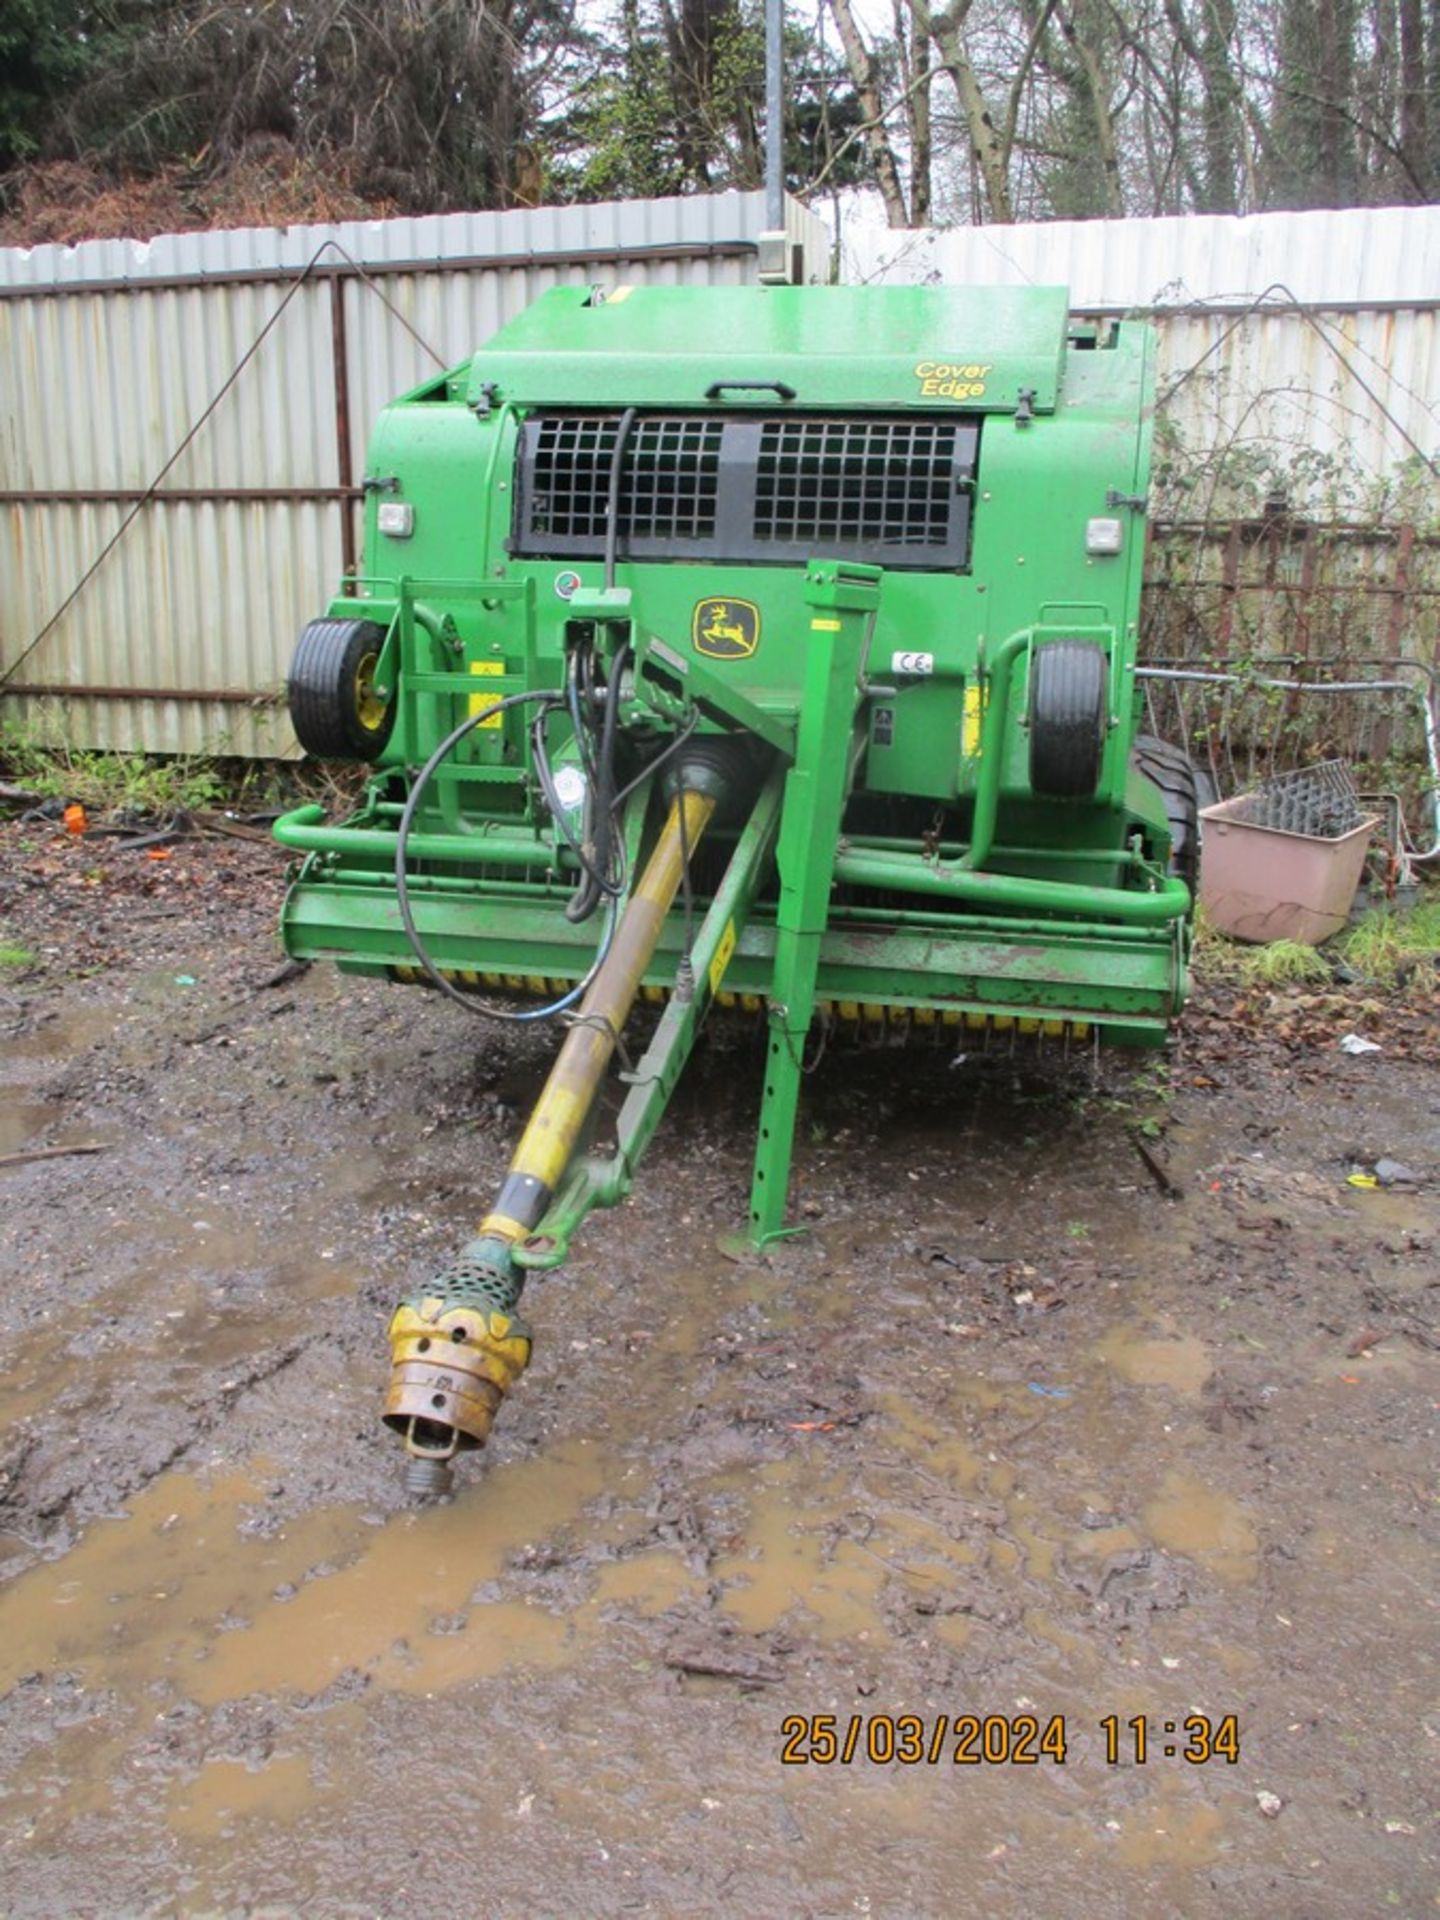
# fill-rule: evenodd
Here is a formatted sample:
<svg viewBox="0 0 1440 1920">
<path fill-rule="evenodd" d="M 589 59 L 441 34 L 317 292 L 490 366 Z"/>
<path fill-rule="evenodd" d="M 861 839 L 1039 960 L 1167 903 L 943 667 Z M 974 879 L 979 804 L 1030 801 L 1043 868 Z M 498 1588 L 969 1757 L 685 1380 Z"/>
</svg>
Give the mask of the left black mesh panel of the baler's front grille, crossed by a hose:
<svg viewBox="0 0 1440 1920">
<path fill-rule="evenodd" d="M 530 538 L 605 541 L 618 430 L 614 415 L 549 415 L 534 422 Z M 722 432 L 724 420 L 636 420 L 620 468 L 622 540 L 714 534 Z"/>
</svg>

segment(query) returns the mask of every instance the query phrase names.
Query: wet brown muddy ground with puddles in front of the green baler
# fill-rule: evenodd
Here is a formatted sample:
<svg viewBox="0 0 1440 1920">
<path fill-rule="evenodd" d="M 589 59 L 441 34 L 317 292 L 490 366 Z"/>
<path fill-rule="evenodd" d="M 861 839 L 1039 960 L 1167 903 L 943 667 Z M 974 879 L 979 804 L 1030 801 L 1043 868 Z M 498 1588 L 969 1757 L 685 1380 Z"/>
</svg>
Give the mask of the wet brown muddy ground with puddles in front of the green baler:
<svg viewBox="0 0 1440 1920">
<path fill-rule="evenodd" d="M 716 1031 L 417 1513 L 384 1323 L 545 1043 L 276 979 L 265 849 L 0 858 L 0 1154 L 106 1148 L 0 1167 L 0 1912 L 1434 1910 L 1434 1066 L 1204 996 L 1167 1073 L 837 1046 L 732 1260 Z M 870 1759 L 906 1713 L 1066 1764 Z"/>
</svg>

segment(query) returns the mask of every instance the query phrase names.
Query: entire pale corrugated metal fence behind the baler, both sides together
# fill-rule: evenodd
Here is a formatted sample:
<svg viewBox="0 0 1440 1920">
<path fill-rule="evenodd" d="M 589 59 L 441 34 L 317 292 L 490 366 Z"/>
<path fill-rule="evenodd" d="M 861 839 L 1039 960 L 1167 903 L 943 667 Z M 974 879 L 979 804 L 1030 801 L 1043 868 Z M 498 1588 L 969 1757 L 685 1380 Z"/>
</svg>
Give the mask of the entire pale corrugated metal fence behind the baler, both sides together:
<svg viewBox="0 0 1440 1920">
<path fill-rule="evenodd" d="M 789 223 L 824 278 L 828 230 Z M 8 708 L 63 701 L 81 745 L 290 753 L 275 695 L 351 557 L 380 407 L 549 286 L 745 280 L 762 225 L 720 194 L 0 252 Z M 1440 207 L 856 227 L 843 276 L 1156 321 L 1152 659 L 1434 662 Z"/>
</svg>

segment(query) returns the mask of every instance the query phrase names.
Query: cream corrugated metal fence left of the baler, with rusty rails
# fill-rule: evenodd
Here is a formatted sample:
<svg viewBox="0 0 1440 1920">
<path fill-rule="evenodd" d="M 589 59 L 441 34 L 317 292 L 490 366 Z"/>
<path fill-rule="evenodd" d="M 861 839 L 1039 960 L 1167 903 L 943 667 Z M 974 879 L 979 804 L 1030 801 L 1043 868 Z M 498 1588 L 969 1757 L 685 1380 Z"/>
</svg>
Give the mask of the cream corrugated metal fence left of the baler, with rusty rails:
<svg viewBox="0 0 1440 1920">
<path fill-rule="evenodd" d="M 6 716 L 292 753 L 276 693 L 380 407 L 551 286 L 749 280 L 762 227 L 762 194 L 716 194 L 0 252 Z M 789 228 L 824 276 L 828 230 Z"/>
</svg>

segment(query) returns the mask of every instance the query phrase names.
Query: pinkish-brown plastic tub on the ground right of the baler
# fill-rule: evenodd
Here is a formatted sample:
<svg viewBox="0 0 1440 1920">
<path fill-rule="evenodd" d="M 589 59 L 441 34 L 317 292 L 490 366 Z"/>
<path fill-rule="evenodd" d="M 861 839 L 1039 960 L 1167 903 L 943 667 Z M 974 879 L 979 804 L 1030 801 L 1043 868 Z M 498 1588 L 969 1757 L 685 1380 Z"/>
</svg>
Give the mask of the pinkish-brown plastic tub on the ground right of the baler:
<svg viewBox="0 0 1440 1920">
<path fill-rule="evenodd" d="M 1236 941 L 1319 947 L 1350 918 L 1379 814 L 1334 839 L 1284 833 L 1236 818 L 1250 795 L 1200 812 L 1200 902 L 1210 924 Z"/>
</svg>

